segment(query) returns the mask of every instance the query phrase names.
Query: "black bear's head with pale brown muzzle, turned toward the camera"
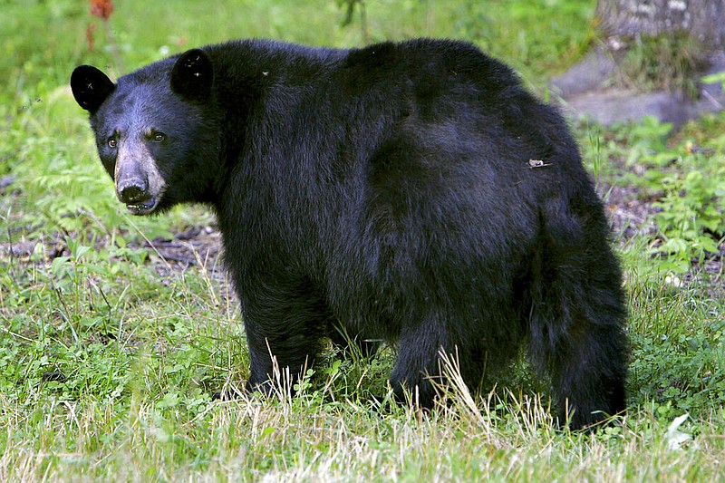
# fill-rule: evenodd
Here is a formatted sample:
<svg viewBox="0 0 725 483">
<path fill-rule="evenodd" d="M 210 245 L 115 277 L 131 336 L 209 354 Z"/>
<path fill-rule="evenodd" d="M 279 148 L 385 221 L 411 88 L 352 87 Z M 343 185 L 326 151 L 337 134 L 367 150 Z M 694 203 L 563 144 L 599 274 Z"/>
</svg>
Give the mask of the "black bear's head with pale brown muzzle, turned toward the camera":
<svg viewBox="0 0 725 483">
<path fill-rule="evenodd" d="M 134 215 L 213 199 L 218 179 L 219 115 L 214 68 L 193 49 L 111 82 L 91 65 L 76 67 L 71 88 L 89 111 L 103 167 Z"/>
</svg>

